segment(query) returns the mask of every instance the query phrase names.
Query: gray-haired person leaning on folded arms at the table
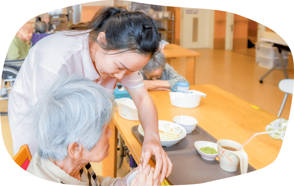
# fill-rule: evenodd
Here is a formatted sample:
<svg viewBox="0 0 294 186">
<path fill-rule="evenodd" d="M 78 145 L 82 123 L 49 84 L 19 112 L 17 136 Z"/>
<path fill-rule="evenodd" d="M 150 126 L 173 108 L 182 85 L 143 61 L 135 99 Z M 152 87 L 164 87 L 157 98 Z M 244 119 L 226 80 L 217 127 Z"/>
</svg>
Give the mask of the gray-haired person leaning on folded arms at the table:
<svg viewBox="0 0 294 186">
<path fill-rule="evenodd" d="M 171 65 L 166 63 L 166 58 L 162 52 L 156 55 L 156 59 L 158 63 L 151 59 L 140 70 L 145 86 L 149 91 L 171 91 L 173 86 L 178 82 L 188 82 L 183 76 L 177 74 Z"/>
</svg>

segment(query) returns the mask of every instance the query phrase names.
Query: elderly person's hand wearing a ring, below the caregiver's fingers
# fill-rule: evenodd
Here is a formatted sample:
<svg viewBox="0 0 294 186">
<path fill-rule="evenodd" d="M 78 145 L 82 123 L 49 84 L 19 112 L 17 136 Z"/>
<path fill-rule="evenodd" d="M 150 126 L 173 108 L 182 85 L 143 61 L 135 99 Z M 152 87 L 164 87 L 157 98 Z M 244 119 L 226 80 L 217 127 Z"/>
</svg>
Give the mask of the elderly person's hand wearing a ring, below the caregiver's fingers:
<svg viewBox="0 0 294 186">
<path fill-rule="evenodd" d="M 131 181 L 131 186 L 160 185 L 160 182 L 159 182 L 160 176 L 158 176 L 158 179 L 156 180 L 153 179 L 153 175 L 154 175 L 153 172 L 155 170 L 153 167 L 151 167 L 150 165 L 147 165 L 146 168 L 143 169 L 140 163 L 139 166 L 137 166 L 137 168 L 138 168 L 138 172 L 135 178 Z"/>
</svg>

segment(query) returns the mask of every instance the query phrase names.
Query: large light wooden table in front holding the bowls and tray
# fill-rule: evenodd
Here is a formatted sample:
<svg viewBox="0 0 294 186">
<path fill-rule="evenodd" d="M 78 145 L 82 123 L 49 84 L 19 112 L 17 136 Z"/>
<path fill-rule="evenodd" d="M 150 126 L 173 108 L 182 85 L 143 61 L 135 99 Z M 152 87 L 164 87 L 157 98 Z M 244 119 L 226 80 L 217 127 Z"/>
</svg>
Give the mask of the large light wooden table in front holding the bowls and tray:
<svg viewBox="0 0 294 186">
<path fill-rule="evenodd" d="M 246 142 L 253 134 L 266 131 L 265 127 L 277 116 L 263 110 L 253 108 L 241 98 L 226 92 L 214 85 L 191 85 L 191 90 L 206 94 L 196 108 L 178 108 L 171 105 L 169 91 L 149 91 L 158 109 L 158 119 L 173 121 L 173 117 L 187 115 L 198 120 L 198 126 L 217 140 L 230 139 L 240 144 Z M 138 121 L 129 121 L 118 114 L 110 124 L 113 135 L 109 139 L 110 153 L 102 161 L 102 176 L 116 177 L 117 130 L 137 164 L 140 163 L 142 145 L 132 133 L 132 126 Z M 115 132 L 114 132 L 115 131 Z M 269 135 L 258 135 L 244 146 L 249 157 L 249 164 L 256 170 L 270 165 L 278 157 L 282 141 Z M 149 164 L 153 167 L 151 158 Z M 176 171 L 176 170 L 173 170 Z"/>
</svg>

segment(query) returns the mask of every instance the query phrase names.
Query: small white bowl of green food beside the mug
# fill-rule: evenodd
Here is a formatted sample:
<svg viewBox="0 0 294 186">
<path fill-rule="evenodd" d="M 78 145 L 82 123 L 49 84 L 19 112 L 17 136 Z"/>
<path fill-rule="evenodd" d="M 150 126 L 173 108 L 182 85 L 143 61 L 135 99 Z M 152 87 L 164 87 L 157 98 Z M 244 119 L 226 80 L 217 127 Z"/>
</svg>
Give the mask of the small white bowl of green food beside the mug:
<svg viewBox="0 0 294 186">
<path fill-rule="evenodd" d="M 210 141 L 196 141 L 194 143 L 197 152 L 205 160 L 215 160 L 218 156 L 218 145 Z"/>
</svg>

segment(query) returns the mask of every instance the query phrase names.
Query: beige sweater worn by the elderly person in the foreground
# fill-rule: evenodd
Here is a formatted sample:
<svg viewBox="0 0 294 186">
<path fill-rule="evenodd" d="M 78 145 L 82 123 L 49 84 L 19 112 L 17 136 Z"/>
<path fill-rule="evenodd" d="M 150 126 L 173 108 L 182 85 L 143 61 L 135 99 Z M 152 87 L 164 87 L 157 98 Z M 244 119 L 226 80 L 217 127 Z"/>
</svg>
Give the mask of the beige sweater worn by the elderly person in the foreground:
<svg viewBox="0 0 294 186">
<path fill-rule="evenodd" d="M 36 153 L 33 156 L 30 164 L 28 165 L 27 172 L 41 179 L 45 179 L 55 183 L 68 184 L 68 185 L 87 185 L 88 186 L 88 185 L 95 185 L 95 182 L 96 182 L 97 185 L 101 185 L 101 186 L 113 186 L 116 180 L 121 179 L 120 177 L 111 178 L 110 176 L 102 177 L 102 176 L 96 175 L 97 180 L 95 181 L 92 176 L 89 176 L 93 172 L 92 167 L 89 170 L 87 170 L 86 167 L 83 166 L 83 173 L 81 175 L 82 181 L 80 181 L 68 175 L 64 170 L 60 169 L 50 160 L 41 159 L 38 153 Z M 89 180 L 89 177 L 90 177 L 90 180 Z"/>
</svg>

